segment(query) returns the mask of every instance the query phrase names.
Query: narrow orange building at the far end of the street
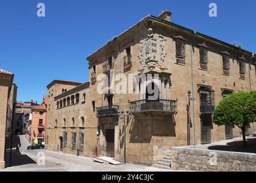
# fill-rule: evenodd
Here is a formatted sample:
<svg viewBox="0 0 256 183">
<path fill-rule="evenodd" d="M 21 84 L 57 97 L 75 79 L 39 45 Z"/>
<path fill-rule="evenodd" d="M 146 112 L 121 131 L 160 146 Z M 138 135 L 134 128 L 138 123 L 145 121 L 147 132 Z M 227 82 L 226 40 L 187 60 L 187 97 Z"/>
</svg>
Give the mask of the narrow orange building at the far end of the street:
<svg viewBox="0 0 256 183">
<path fill-rule="evenodd" d="M 31 144 L 45 144 L 46 104 L 47 97 L 44 96 L 42 105 L 31 109 Z"/>
</svg>

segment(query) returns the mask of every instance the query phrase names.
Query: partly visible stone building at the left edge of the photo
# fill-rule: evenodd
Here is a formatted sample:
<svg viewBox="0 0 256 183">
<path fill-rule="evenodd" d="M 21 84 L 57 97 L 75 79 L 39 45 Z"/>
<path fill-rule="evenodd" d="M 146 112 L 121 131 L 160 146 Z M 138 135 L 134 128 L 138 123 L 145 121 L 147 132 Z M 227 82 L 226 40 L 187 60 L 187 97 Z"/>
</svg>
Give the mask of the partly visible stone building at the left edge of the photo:
<svg viewBox="0 0 256 183">
<path fill-rule="evenodd" d="M 16 100 L 13 85 L 14 74 L 0 69 L 0 168 L 5 168 L 6 141 L 11 136 L 13 101 Z M 11 89 L 13 88 L 13 91 Z"/>
</svg>

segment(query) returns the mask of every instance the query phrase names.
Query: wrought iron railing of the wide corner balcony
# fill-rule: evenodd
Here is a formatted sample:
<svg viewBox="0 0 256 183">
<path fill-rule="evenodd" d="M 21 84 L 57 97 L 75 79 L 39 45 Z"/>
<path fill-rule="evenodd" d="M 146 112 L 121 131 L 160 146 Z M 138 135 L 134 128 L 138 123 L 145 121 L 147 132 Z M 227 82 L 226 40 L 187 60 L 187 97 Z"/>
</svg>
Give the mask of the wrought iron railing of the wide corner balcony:
<svg viewBox="0 0 256 183">
<path fill-rule="evenodd" d="M 177 113 L 177 101 L 174 100 L 139 100 L 129 102 L 130 113 L 170 112 Z"/>
</svg>

